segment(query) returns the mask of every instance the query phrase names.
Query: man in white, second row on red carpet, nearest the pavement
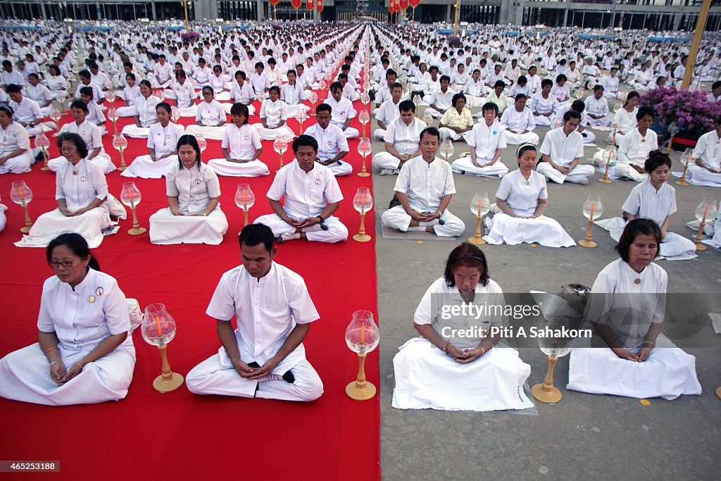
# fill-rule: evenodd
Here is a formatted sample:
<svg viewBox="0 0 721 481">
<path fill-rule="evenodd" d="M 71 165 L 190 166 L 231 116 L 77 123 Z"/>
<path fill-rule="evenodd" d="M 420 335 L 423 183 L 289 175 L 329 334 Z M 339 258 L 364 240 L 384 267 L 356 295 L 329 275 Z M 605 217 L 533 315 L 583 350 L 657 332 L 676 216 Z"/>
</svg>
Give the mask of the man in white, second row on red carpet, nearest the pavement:
<svg viewBox="0 0 721 481">
<path fill-rule="evenodd" d="M 333 172 L 316 162 L 318 142 L 311 136 L 293 141 L 296 162 L 286 164 L 275 175 L 267 192 L 275 213 L 260 216 L 256 224 L 273 229 L 278 243 L 291 239 L 340 242 L 348 239 L 348 229 L 332 214 L 343 200 Z M 286 203 L 280 199 L 286 198 Z"/>
</svg>

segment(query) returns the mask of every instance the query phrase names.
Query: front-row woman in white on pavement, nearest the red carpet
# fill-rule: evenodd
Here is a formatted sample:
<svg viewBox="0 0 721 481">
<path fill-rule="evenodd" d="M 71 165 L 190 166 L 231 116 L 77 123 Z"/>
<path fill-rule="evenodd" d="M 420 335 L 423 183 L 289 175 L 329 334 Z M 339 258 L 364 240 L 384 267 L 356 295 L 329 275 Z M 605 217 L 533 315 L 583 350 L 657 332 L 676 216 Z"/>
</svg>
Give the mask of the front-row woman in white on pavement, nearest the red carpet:
<svg viewBox="0 0 721 481">
<path fill-rule="evenodd" d="M 488 315 L 453 316 L 448 309 L 493 306 Z M 503 326 L 503 291 L 488 273 L 485 255 L 468 242 L 446 260 L 443 277 L 425 291 L 413 317 L 422 337 L 402 345 L 393 358 L 396 387 L 393 407 L 497 411 L 526 409 L 533 402 L 523 392 L 531 366 L 518 351 L 497 345 Z"/>
</svg>

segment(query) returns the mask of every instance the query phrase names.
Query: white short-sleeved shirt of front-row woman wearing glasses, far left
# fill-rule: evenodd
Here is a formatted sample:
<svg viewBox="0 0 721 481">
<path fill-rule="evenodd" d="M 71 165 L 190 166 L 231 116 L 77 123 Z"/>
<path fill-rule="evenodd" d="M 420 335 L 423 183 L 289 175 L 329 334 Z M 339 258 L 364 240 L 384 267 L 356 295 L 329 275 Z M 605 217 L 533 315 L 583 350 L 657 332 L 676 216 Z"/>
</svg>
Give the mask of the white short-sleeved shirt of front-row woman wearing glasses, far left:
<svg viewBox="0 0 721 481">
<path fill-rule="evenodd" d="M 61 347 L 89 351 L 130 328 L 125 294 L 110 275 L 89 269 L 75 288 L 56 275 L 43 283 L 37 329 L 55 332 Z"/>
</svg>

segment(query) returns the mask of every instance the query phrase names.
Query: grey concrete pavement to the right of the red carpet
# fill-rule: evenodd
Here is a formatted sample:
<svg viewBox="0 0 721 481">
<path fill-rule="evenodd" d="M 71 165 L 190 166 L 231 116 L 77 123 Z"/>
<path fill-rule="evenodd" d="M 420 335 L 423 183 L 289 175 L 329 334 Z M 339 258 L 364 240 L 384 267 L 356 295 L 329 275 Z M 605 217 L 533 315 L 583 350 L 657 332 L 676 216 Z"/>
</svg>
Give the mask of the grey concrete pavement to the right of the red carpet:
<svg viewBox="0 0 721 481">
<path fill-rule="evenodd" d="M 474 110 L 475 112 L 475 110 Z M 435 121 L 434 125 L 438 122 Z M 541 139 L 547 128 L 537 128 Z M 605 147 L 606 133 L 597 132 L 596 144 Z M 456 156 L 468 147 L 456 142 Z M 373 142 L 373 151 L 383 149 Z M 596 148 L 585 149 L 585 163 Z M 509 146 L 501 159 L 516 169 L 516 147 Z M 678 153 L 673 154 L 678 170 Z M 373 172 L 376 205 L 386 207 L 393 195 L 396 176 Z M 583 202 L 590 193 L 600 194 L 603 218 L 617 216 L 635 182 L 598 182 L 594 175 L 588 186 L 549 182 L 547 216 L 559 221 L 574 239 L 583 239 L 587 221 Z M 675 179 L 673 179 L 675 180 Z M 672 181 L 673 181 L 672 180 Z M 475 218 L 469 201 L 477 190 L 492 199 L 500 180 L 455 175 L 456 190 L 451 211 L 466 223 L 459 242 L 472 237 Z M 713 187 L 676 187 L 678 213 L 670 231 L 690 237 L 695 232 L 685 224 L 704 197 L 719 198 Z M 507 293 L 529 289 L 556 293 L 565 283 L 591 286 L 601 268 L 616 260 L 614 242 L 603 229 L 594 227 L 596 249 L 571 247 L 482 246 L 491 277 Z M 693 312 L 699 322 L 699 336 L 708 348 L 686 348 L 696 356 L 696 369 L 704 388 L 702 396 L 678 400 L 639 400 L 584 394 L 565 389 L 568 358 L 557 363 L 555 385 L 563 400 L 556 405 L 536 402 L 538 415 L 528 412 L 443 412 L 397 410 L 391 407 L 394 375 L 392 359 L 397 348 L 417 335 L 412 317 L 421 296 L 443 273 L 443 262 L 455 246 L 451 242 L 400 241 L 382 239 L 376 216 L 379 319 L 383 342 L 381 369 L 381 474 L 386 480 L 431 479 L 720 479 L 717 443 L 721 434 L 721 400 L 714 389 L 721 385 L 717 366 L 721 361 L 721 336 L 714 334 L 706 315 L 708 305 L 692 301 L 679 307 Z M 721 252 L 700 252 L 695 260 L 658 261 L 668 272 L 668 291 L 702 293 L 721 312 Z M 537 348 L 521 348 L 521 358 L 531 364 L 529 384 L 539 383 L 547 361 Z"/>
</svg>

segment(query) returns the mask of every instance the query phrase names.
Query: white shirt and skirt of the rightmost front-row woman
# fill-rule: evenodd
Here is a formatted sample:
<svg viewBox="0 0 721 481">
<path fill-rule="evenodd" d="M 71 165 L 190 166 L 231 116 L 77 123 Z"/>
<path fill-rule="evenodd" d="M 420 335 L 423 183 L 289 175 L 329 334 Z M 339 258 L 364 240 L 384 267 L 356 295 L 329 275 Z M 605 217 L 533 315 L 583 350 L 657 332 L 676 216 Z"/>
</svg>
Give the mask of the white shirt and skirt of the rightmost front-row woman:
<svg viewBox="0 0 721 481">
<path fill-rule="evenodd" d="M 651 323 L 663 322 L 667 283 L 665 270 L 653 262 L 637 273 L 615 260 L 598 273 L 586 315 L 591 322 L 608 325 L 619 344 L 638 353 Z M 663 334 L 655 342 L 644 362 L 619 358 L 611 348 L 573 348 L 567 388 L 641 399 L 701 394 L 694 356 Z"/>
</svg>

